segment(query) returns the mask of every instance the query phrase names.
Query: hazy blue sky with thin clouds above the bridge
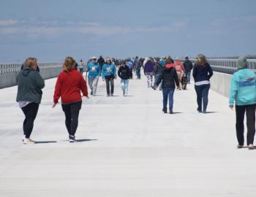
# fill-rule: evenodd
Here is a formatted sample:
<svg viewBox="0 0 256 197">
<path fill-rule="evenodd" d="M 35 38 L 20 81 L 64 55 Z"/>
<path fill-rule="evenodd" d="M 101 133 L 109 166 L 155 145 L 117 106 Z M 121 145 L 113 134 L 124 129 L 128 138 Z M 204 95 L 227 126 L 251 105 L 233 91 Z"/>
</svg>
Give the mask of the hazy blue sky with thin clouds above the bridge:
<svg viewBox="0 0 256 197">
<path fill-rule="evenodd" d="M 0 62 L 256 54 L 255 0 L 1 0 Z"/>
</svg>

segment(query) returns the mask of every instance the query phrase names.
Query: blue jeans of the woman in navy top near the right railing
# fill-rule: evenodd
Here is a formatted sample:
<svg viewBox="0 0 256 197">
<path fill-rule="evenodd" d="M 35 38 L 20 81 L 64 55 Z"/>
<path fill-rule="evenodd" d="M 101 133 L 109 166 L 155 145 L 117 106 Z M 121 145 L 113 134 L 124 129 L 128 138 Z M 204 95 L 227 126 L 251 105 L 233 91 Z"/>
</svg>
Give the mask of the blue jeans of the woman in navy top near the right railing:
<svg viewBox="0 0 256 197">
<path fill-rule="evenodd" d="M 206 112 L 208 105 L 208 93 L 210 84 L 206 85 L 195 85 L 195 92 L 197 93 L 197 110 L 202 112 L 202 99 L 203 99 L 203 112 Z"/>
</svg>

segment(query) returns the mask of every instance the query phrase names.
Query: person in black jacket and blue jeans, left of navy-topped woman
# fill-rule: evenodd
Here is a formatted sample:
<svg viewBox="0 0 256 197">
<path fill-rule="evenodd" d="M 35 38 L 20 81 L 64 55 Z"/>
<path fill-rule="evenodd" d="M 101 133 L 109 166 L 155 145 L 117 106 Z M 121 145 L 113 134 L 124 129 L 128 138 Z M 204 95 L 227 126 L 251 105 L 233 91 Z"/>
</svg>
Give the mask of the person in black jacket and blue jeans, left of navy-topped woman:
<svg viewBox="0 0 256 197">
<path fill-rule="evenodd" d="M 170 114 L 173 114 L 173 94 L 175 90 L 175 84 L 179 87 L 178 75 L 176 69 L 173 67 L 173 64 L 170 60 L 165 62 L 165 67 L 162 70 L 162 74 L 160 75 L 156 86 L 157 89 L 159 83 L 162 82 L 162 96 L 163 96 L 163 109 L 164 113 L 167 113 L 167 101 L 169 98 L 169 110 Z"/>
</svg>

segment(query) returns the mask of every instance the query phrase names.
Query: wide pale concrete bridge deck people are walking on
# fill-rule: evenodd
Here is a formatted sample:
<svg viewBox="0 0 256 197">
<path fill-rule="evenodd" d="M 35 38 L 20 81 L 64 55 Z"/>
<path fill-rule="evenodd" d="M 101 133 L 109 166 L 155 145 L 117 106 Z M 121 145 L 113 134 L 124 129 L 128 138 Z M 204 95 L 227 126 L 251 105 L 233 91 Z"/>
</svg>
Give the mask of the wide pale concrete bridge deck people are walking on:
<svg viewBox="0 0 256 197">
<path fill-rule="evenodd" d="M 0 90 L 0 196 L 253 196 L 254 151 L 236 149 L 235 113 L 210 91 L 208 113 L 196 112 L 195 90 L 176 91 L 175 115 L 162 93 L 131 80 L 129 96 L 83 101 L 69 144 L 61 106 L 51 109 L 56 79 L 47 80 L 31 138 L 23 145 L 17 87 Z"/>
</svg>

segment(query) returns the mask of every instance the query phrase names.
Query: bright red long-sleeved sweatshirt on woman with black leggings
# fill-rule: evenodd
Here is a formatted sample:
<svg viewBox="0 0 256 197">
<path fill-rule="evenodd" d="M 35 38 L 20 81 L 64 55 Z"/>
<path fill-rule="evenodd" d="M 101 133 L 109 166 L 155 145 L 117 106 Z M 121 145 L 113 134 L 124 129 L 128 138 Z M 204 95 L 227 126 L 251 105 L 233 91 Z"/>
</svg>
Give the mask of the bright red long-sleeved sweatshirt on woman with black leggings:
<svg viewBox="0 0 256 197">
<path fill-rule="evenodd" d="M 86 81 L 82 74 L 77 70 L 72 69 L 69 72 L 61 72 L 56 82 L 53 102 L 58 103 L 61 97 L 62 104 L 70 104 L 82 101 L 81 91 L 83 96 L 88 96 Z"/>
</svg>

